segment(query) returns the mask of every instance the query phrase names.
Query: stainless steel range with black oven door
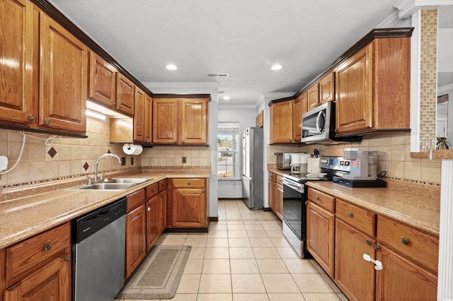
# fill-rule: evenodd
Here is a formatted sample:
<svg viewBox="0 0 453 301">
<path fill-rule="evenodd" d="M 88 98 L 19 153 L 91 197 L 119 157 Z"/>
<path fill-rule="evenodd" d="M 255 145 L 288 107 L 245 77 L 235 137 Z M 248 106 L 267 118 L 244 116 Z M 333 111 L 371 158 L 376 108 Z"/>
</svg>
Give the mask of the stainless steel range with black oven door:
<svg viewBox="0 0 453 301">
<path fill-rule="evenodd" d="M 306 201 L 309 181 L 332 181 L 333 176 L 348 174 L 350 161 L 342 157 L 322 157 L 321 172 L 283 176 L 283 235 L 301 258 L 306 251 Z"/>
</svg>

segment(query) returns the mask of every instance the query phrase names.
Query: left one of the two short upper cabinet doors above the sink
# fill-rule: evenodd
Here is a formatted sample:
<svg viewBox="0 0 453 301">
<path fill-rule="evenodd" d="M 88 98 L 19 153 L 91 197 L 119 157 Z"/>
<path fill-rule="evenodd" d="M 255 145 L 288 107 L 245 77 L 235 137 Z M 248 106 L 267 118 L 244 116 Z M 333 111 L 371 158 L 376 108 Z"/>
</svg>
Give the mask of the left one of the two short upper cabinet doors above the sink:
<svg viewBox="0 0 453 301">
<path fill-rule="evenodd" d="M 92 100 L 116 107 L 116 69 L 96 52 L 90 52 L 89 93 Z"/>
</svg>

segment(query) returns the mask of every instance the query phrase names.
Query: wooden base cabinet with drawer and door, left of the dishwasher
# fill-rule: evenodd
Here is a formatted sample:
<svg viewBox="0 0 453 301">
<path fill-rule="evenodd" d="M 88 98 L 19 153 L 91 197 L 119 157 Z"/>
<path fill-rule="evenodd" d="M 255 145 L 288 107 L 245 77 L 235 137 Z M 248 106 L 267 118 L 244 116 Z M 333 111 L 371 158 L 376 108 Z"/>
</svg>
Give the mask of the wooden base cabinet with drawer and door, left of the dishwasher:
<svg viewBox="0 0 453 301">
<path fill-rule="evenodd" d="M 70 301 L 71 223 L 6 248 L 5 267 L 5 300 Z"/>
</svg>

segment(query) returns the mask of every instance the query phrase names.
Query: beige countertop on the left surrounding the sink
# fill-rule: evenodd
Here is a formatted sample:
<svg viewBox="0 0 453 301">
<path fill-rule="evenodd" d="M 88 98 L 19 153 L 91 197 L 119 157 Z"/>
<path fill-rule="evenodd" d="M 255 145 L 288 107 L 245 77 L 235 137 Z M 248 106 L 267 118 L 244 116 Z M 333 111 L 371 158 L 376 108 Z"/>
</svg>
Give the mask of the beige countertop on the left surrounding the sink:
<svg viewBox="0 0 453 301">
<path fill-rule="evenodd" d="M 209 176 L 210 172 L 140 172 L 121 177 L 151 180 L 123 191 L 56 189 L 28 196 L 22 196 L 20 189 L 14 189 L 9 194 L 0 191 L 3 197 L 0 201 L 0 249 L 54 228 L 161 179 Z"/>
</svg>

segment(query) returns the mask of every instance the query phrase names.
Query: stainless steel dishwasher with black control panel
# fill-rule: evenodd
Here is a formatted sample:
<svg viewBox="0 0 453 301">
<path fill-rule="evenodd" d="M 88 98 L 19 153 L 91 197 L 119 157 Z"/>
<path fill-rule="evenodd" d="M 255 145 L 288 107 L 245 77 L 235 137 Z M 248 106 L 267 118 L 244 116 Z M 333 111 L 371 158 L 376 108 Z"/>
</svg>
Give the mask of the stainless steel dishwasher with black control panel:
<svg viewBox="0 0 453 301">
<path fill-rule="evenodd" d="M 72 220 L 72 299 L 112 301 L 124 285 L 127 199 Z"/>
</svg>

